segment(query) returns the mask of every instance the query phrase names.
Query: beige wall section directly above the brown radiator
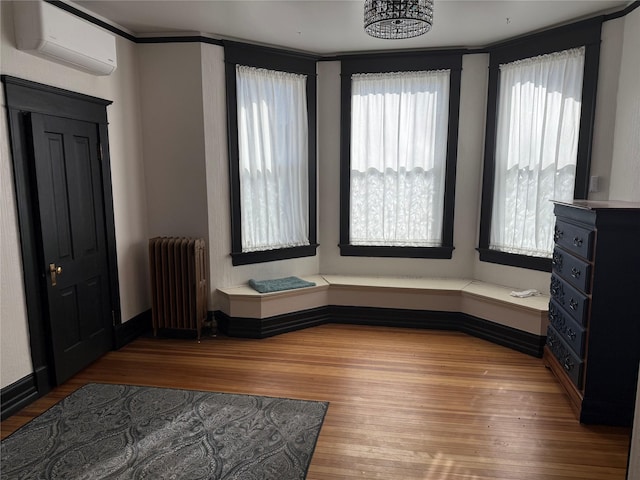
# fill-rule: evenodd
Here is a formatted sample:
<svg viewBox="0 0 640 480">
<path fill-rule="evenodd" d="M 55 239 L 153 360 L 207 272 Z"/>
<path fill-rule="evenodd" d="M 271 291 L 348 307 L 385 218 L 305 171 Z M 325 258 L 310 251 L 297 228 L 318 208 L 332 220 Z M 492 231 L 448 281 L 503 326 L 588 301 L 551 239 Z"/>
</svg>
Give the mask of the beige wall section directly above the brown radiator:
<svg viewBox="0 0 640 480">
<path fill-rule="evenodd" d="M 207 239 L 200 44 L 137 49 L 149 235 Z"/>
</svg>

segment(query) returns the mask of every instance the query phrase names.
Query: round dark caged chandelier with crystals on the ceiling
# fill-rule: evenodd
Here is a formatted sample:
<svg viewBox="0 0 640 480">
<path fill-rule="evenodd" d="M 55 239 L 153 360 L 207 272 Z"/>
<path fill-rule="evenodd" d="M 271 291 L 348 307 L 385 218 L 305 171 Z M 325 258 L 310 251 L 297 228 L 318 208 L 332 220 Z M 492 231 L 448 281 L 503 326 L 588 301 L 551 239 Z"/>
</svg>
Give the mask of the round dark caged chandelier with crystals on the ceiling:
<svg viewBox="0 0 640 480">
<path fill-rule="evenodd" d="M 365 0 L 364 30 L 377 38 L 411 38 L 433 25 L 433 0 Z"/>
</svg>

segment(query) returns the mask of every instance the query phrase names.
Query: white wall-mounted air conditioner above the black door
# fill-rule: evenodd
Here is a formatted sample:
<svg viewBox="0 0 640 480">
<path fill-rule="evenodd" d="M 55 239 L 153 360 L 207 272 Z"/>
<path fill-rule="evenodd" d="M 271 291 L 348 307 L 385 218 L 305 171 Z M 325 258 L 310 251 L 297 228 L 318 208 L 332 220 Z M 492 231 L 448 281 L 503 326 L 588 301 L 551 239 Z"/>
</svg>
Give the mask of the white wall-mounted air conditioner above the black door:
<svg viewBox="0 0 640 480">
<path fill-rule="evenodd" d="M 116 69 L 116 39 L 111 33 L 40 0 L 14 2 L 13 8 L 20 50 L 94 75 Z"/>
</svg>

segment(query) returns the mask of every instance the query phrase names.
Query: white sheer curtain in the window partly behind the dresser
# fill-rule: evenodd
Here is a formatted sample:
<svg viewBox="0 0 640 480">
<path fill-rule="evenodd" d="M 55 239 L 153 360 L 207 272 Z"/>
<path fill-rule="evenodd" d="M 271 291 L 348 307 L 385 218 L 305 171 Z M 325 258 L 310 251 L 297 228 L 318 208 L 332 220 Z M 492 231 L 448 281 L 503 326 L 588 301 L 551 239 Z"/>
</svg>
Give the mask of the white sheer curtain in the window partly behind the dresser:
<svg viewBox="0 0 640 480">
<path fill-rule="evenodd" d="M 500 66 L 490 248 L 550 257 L 553 204 L 573 199 L 584 48 Z"/>
</svg>

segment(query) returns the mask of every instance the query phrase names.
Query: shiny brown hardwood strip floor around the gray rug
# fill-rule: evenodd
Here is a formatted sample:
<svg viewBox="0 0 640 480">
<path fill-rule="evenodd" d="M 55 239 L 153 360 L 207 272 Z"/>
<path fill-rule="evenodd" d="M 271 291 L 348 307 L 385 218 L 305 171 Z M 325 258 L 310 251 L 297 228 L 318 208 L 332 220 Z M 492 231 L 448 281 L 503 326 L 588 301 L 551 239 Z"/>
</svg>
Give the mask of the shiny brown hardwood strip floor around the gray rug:
<svg viewBox="0 0 640 480">
<path fill-rule="evenodd" d="M 581 425 L 541 359 L 461 333 L 140 338 L 2 422 L 2 438 L 89 382 L 329 401 L 309 480 L 625 478 L 629 429 Z"/>
</svg>

